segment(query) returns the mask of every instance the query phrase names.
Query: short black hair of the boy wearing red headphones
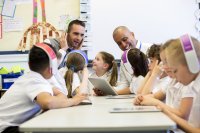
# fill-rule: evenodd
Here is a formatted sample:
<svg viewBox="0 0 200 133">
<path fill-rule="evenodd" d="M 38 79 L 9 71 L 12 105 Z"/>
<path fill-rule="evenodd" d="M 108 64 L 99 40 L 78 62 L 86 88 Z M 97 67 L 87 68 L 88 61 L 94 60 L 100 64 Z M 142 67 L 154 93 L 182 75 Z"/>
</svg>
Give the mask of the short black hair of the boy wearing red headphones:
<svg viewBox="0 0 200 133">
<path fill-rule="evenodd" d="M 55 53 L 57 53 L 56 50 L 50 44 L 45 45 L 48 45 L 53 49 Z M 34 45 L 30 49 L 28 63 L 30 70 L 38 73 L 43 72 L 47 67 L 49 67 L 50 64 L 47 53 L 41 48 L 36 47 Z"/>
</svg>

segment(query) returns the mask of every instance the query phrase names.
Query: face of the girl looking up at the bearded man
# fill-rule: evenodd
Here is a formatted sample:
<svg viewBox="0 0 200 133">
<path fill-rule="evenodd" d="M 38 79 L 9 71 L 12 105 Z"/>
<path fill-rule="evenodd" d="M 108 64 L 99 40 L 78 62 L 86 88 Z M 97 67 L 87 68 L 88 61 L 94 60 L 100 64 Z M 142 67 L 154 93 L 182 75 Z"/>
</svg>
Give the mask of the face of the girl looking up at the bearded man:
<svg viewBox="0 0 200 133">
<path fill-rule="evenodd" d="M 92 69 L 94 71 L 103 70 L 103 69 L 105 69 L 105 65 L 106 65 L 106 63 L 104 63 L 101 54 L 98 53 L 96 55 L 95 59 L 92 61 Z"/>
</svg>

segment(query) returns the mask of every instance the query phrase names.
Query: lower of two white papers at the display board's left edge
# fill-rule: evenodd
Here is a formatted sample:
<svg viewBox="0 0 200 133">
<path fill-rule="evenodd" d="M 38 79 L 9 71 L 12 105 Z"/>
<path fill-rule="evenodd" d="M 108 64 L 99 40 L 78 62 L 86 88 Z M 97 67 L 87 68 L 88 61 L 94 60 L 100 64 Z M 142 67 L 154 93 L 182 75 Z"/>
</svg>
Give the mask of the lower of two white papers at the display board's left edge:
<svg viewBox="0 0 200 133">
<path fill-rule="evenodd" d="M 23 21 L 20 18 L 4 18 L 3 19 L 3 31 L 22 31 Z"/>
</svg>

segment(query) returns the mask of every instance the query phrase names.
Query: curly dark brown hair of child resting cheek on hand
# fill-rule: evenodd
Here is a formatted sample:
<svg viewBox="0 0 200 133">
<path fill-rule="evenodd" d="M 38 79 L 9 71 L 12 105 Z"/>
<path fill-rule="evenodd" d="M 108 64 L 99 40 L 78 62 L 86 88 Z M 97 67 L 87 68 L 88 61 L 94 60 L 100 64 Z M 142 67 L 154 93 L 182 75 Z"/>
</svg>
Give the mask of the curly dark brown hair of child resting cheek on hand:
<svg viewBox="0 0 200 133">
<path fill-rule="evenodd" d="M 159 62 L 160 59 L 160 48 L 161 45 L 153 44 L 148 50 L 147 50 L 147 57 L 148 58 L 156 58 Z"/>
</svg>

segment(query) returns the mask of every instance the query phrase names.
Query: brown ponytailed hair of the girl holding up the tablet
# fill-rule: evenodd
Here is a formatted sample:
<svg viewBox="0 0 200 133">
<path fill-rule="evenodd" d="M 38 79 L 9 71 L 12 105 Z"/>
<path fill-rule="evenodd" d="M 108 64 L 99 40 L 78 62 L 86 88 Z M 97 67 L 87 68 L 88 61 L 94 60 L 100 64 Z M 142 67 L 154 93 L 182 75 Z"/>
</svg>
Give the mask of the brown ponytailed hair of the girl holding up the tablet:
<svg viewBox="0 0 200 133">
<path fill-rule="evenodd" d="M 107 63 L 109 65 L 107 71 L 112 69 L 111 78 L 109 81 L 110 85 L 116 86 L 117 78 L 118 78 L 118 71 L 117 71 L 117 63 L 115 62 L 114 56 L 107 52 L 104 52 L 104 51 L 101 51 L 99 53 L 100 53 L 104 63 Z"/>
</svg>

